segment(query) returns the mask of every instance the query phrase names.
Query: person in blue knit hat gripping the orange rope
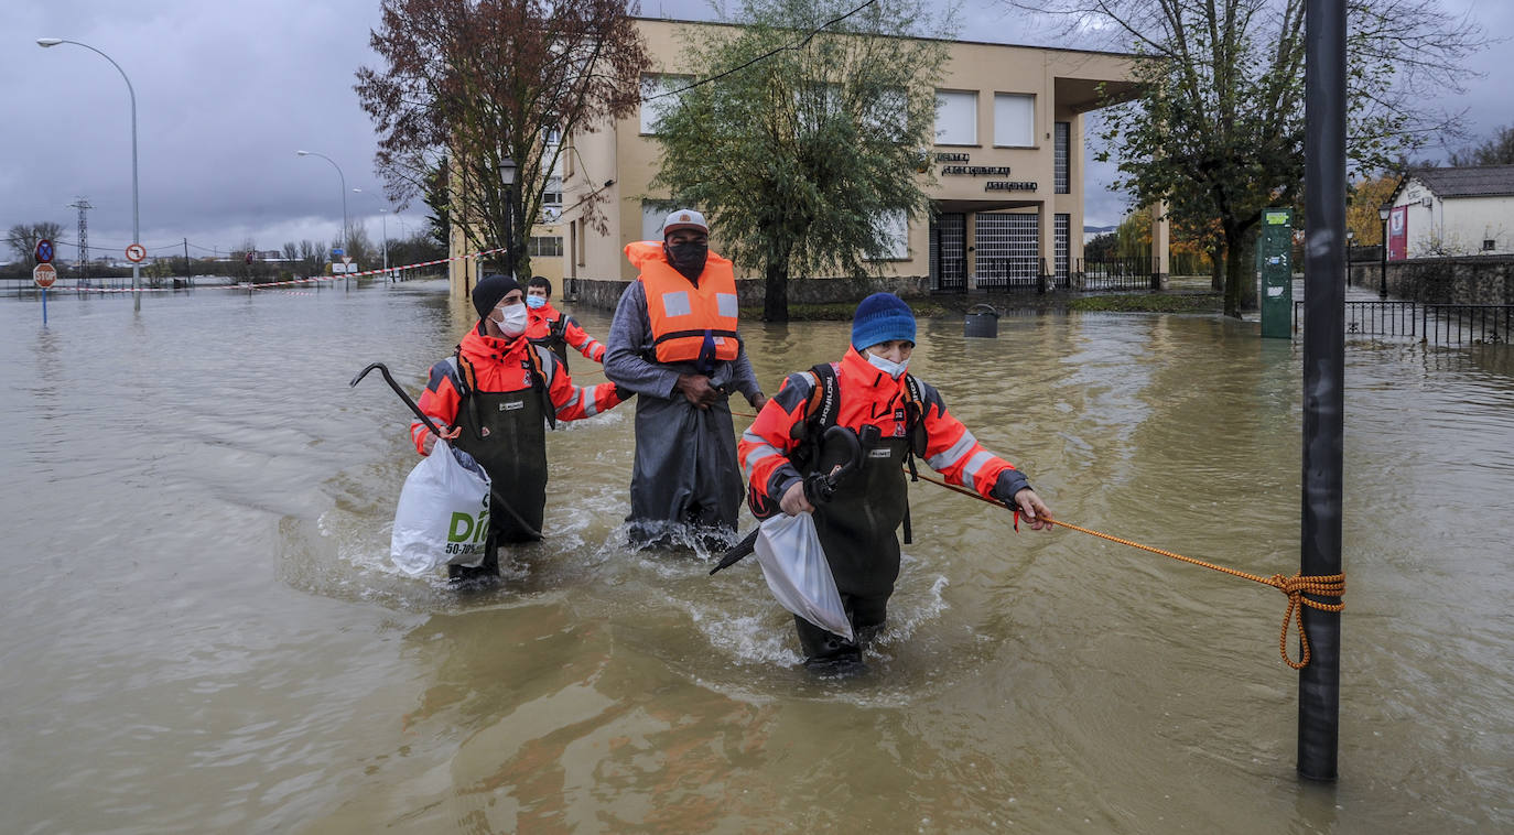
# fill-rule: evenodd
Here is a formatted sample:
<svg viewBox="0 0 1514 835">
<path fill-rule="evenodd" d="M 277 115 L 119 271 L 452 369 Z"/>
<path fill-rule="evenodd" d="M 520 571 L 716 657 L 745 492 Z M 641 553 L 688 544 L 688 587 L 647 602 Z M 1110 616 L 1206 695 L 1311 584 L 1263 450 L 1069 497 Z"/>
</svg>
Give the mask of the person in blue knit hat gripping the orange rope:
<svg viewBox="0 0 1514 835">
<path fill-rule="evenodd" d="M 842 605 L 861 644 L 878 631 L 899 576 L 899 540 L 910 542 L 908 481 L 922 458 L 948 483 L 990 496 L 1051 529 L 1051 510 L 1025 473 L 989 452 L 946 411 L 940 393 L 907 372 L 914 352 L 914 313 L 892 293 L 874 293 L 852 316 L 851 348 L 837 363 L 790 374 L 742 434 L 737 455 L 757 519 L 813 513 Z M 843 427 L 857 445 L 830 433 Z M 861 458 L 855 458 L 860 451 Z M 834 495 L 819 507 L 805 476 L 834 473 Z M 842 670 L 861 664 L 861 644 L 795 617 L 805 666 Z"/>
</svg>

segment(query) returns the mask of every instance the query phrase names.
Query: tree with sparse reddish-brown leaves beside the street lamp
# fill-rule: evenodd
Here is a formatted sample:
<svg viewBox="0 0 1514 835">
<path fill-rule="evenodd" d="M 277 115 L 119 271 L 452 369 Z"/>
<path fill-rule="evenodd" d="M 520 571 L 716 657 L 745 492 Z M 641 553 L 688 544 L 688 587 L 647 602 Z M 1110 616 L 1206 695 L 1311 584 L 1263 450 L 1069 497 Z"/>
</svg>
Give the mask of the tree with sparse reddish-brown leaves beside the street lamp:
<svg viewBox="0 0 1514 835">
<path fill-rule="evenodd" d="M 389 198 L 404 209 L 442 171 L 448 219 L 468 245 L 509 247 L 528 268 L 525 236 L 560 138 L 640 101 L 650 57 L 630 17 L 637 5 L 383 0 L 382 9 L 369 38 L 382 68 L 359 68 L 356 91 L 378 132 L 375 168 Z M 501 183 L 504 159 L 516 165 L 515 189 Z M 607 231 L 600 200 L 580 210 Z"/>
</svg>

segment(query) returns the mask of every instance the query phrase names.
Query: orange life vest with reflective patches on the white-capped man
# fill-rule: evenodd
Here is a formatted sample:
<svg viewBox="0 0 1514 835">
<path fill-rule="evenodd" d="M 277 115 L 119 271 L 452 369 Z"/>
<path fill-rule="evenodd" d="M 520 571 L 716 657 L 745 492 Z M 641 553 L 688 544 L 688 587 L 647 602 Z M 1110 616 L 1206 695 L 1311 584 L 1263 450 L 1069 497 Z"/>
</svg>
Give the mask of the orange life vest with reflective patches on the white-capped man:
<svg viewBox="0 0 1514 835">
<path fill-rule="evenodd" d="M 646 292 L 646 319 L 657 362 L 698 360 L 706 336 L 713 342 L 716 360 L 736 359 L 740 343 L 736 339 L 736 274 L 730 262 L 706 263 L 698 287 L 662 260 L 646 262 L 639 280 Z"/>
</svg>

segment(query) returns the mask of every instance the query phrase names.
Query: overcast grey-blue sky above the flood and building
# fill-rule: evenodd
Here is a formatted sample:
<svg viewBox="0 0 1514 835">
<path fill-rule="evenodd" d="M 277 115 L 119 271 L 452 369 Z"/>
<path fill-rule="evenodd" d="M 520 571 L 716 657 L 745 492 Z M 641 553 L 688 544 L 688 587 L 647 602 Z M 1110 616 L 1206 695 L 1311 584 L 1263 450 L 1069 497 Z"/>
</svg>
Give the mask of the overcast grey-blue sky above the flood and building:
<svg viewBox="0 0 1514 835">
<path fill-rule="evenodd" d="M 1514 2 L 1441 0 L 1487 32 L 1514 32 Z M 642 14 L 709 18 L 704 0 L 643 0 Z M 380 236 L 389 207 L 372 172 L 374 129 L 357 104 L 353 73 L 372 65 L 368 33 L 378 0 L 0 0 L 0 80 L 11 116 L 0 132 L 0 230 L 56 221 L 76 239 L 68 207 L 86 197 L 89 244 L 124 248 L 132 237 L 132 145 L 126 83 L 103 57 L 36 38 L 67 38 L 114 57 L 136 89 L 142 242 L 150 251 L 191 254 L 286 241 L 332 241 L 342 218 L 336 169 L 295 150 L 322 153 L 342 168 L 347 210 Z M 1054 42 L 993 0 L 963 8 L 964 39 Z M 990 35 L 992 33 L 992 35 Z M 1444 103 L 1469 110 L 1469 129 L 1488 136 L 1514 124 L 1514 91 L 1493 73 L 1509 44 L 1475 56 L 1467 94 Z M 1506 73 L 1505 73 L 1506 77 Z M 1443 156 L 1431 150 L 1425 156 Z M 1125 212 L 1108 191 L 1111 166 L 1092 165 L 1089 225 Z M 398 237 L 424 222 L 425 206 L 391 216 Z M 59 247 L 73 259 L 71 244 Z M 9 259 L 0 253 L 0 260 Z"/>
</svg>

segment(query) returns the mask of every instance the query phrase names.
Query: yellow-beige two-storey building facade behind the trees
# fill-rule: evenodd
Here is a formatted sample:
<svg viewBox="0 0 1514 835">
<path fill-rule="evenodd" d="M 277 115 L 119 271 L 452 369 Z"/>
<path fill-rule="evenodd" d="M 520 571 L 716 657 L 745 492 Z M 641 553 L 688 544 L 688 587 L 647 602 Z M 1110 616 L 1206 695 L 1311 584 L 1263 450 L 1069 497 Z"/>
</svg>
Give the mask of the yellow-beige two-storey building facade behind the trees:
<svg viewBox="0 0 1514 835">
<path fill-rule="evenodd" d="M 656 92 L 690 80 L 689 67 L 681 64 L 690 27 L 725 24 L 642 18 L 637 26 L 653 57 L 642 89 Z M 892 257 L 878 263 L 881 275 L 930 290 L 1019 286 L 1043 275 L 1061 286 L 1072 283 L 1083 260 L 1084 113 L 1102 106 L 1105 97 L 1136 92 L 1134 61 L 1119 53 L 949 42 L 930 148 L 936 183 L 927 194 L 934 216 L 899 218 Z M 639 113 L 565 138 L 566 209 L 554 224 L 531 233 L 560 236 L 562 257 L 533 257 L 533 272 L 557 286 L 566 281 L 569 295 L 581 283 L 636 278 L 624 248 L 660 237 L 666 215 L 654 206 L 666 194 L 650 186 L 660 162 L 653 126 L 666 101 L 671 98 L 653 98 Z M 609 219 L 607 234 L 597 233 L 575 209 L 595 191 Z M 718 218 L 712 224 L 712 248 L 719 251 Z M 1160 265 L 1154 271 L 1163 277 L 1166 233 L 1166 221 L 1158 219 L 1154 251 Z M 460 263 L 472 269 L 471 262 Z M 465 268 L 454 268 L 456 290 L 471 286 L 462 275 Z M 749 265 L 737 265 L 737 277 L 755 275 Z"/>
</svg>

